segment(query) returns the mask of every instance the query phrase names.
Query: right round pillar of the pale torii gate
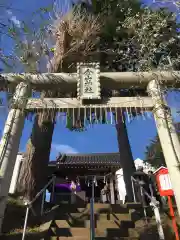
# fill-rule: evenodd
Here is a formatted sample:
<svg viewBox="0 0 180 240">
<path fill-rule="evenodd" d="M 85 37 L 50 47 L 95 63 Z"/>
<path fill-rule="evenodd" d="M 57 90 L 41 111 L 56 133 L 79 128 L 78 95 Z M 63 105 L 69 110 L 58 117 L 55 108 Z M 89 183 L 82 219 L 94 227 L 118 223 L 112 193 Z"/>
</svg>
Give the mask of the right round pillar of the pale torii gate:
<svg viewBox="0 0 180 240">
<path fill-rule="evenodd" d="M 153 100 L 157 131 L 180 215 L 180 142 L 160 84 L 156 80 L 152 80 L 149 82 L 147 90 Z"/>
</svg>

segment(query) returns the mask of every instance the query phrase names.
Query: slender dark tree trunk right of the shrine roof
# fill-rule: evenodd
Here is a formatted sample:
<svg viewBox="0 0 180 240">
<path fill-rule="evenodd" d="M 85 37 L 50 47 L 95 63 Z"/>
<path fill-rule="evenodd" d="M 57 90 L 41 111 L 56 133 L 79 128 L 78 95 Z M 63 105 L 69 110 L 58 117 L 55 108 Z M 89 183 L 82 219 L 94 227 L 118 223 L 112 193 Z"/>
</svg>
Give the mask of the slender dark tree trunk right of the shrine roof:
<svg viewBox="0 0 180 240">
<path fill-rule="evenodd" d="M 118 145 L 120 151 L 120 162 L 123 169 L 123 177 L 126 185 L 127 200 L 133 201 L 133 191 L 131 184 L 131 176 L 135 172 L 134 160 L 128 139 L 127 128 L 124 113 L 119 109 L 117 111 L 118 124 L 116 124 Z M 124 119 L 124 121 L 123 121 Z"/>
</svg>

